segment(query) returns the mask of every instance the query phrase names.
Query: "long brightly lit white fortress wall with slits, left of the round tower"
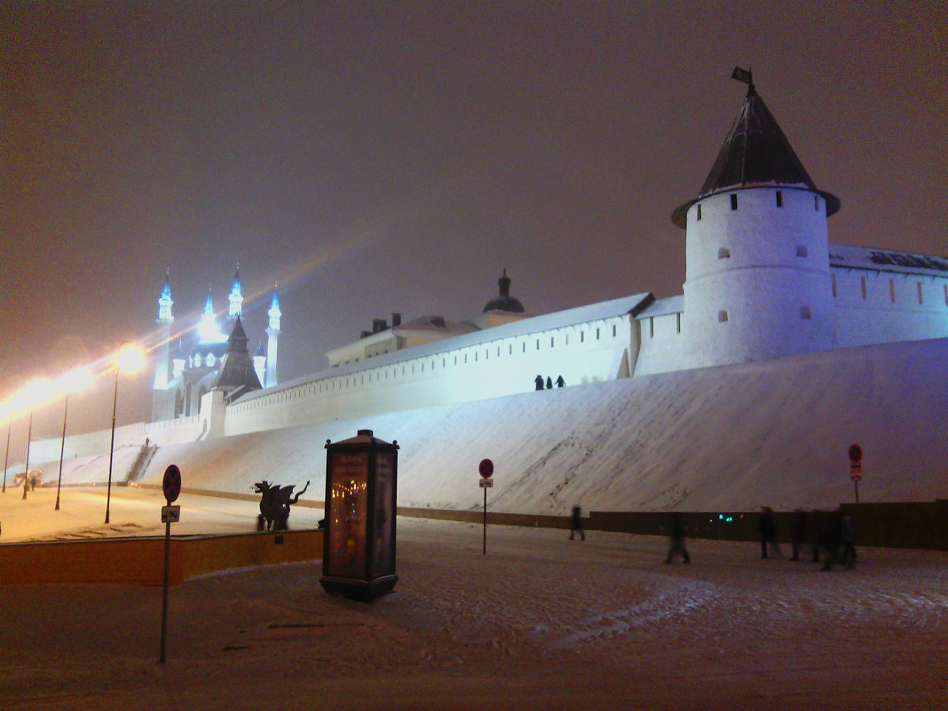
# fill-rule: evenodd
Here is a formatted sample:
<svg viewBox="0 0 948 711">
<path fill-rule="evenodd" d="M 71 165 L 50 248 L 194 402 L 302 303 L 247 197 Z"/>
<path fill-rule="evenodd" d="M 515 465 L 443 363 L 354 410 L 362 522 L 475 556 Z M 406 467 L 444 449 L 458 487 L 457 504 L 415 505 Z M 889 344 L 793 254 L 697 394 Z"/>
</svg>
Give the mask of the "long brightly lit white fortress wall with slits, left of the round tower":
<svg viewBox="0 0 948 711">
<path fill-rule="evenodd" d="M 551 327 L 531 328 L 544 324 Z M 252 393 L 228 407 L 226 434 L 530 392 L 537 375 L 544 382 L 562 375 L 567 386 L 628 377 L 637 332 L 629 313 L 569 325 L 523 319 L 323 371 L 276 392 Z"/>
</svg>

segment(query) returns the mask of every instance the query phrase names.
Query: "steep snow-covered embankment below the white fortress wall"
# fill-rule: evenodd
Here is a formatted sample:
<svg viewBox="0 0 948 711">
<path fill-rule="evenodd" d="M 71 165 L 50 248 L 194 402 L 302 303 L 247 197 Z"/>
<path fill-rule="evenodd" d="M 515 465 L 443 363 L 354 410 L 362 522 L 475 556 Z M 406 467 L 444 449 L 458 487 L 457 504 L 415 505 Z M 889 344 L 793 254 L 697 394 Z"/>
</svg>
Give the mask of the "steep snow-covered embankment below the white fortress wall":
<svg viewBox="0 0 948 711">
<path fill-rule="evenodd" d="M 484 457 L 493 511 L 834 506 L 853 500 L 853 443 L 860 501 L 931 501 L 948 496 L 946 374 L 946 339 L 850 348 L 162 447 L 141 481 L 173 463 L 186 487 L 309 480 L 321 500 L 325 441 L 371 428 L 401 447 L 402 506 L 480 507 Z"/>
</svg>

